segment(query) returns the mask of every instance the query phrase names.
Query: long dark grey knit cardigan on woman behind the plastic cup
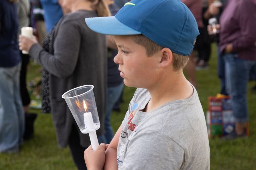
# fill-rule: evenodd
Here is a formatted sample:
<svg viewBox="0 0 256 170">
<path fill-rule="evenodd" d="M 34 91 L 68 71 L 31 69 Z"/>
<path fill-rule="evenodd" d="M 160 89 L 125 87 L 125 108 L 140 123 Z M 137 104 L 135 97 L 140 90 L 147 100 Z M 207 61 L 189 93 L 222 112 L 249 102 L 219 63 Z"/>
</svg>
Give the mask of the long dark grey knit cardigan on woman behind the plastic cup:
<svg viewBox="0 0 256 170">
<path fill-rule="evenodd" d="M 104 134 L 106 98 L 106 39 L 93 32 L 85 18 L 97 17 L 95 11 L 79 10 L 63 16 L 53 36 L 54 55 L 39 44 L 32 45 L 29 55 L 50 73 L 50 100 L 57 141 L 66 147 L 75 120 L 61 95 L 75 87 L 92 84 L 101 127 L 97 135 Z M 77 127 L 77 126 L 76 126 Z M 78 127 L 77 127 L 78 128 Z M 88 134 L 78 129 L 80 144 L 90 145 Z"/>
</svg>

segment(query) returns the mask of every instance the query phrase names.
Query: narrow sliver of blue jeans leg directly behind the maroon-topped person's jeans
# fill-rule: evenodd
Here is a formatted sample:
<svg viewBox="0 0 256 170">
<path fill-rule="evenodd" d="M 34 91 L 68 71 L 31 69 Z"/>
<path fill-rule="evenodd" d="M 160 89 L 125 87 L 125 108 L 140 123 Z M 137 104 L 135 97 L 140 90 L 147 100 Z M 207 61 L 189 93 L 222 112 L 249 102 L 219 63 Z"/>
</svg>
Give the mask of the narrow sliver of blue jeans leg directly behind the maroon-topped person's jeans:
<svg viewBox="0 0 256 170">
<path fill-rule="evenodd" d="M 224 57 L 220 52 L 219 45 L 217 47 L 217 59 L 218 59 L 218 76 L 221 80 L 221 94 L 228 95 L 226 92 L 226 82 L 225 82 L 225 62 Z"/>
</svg>

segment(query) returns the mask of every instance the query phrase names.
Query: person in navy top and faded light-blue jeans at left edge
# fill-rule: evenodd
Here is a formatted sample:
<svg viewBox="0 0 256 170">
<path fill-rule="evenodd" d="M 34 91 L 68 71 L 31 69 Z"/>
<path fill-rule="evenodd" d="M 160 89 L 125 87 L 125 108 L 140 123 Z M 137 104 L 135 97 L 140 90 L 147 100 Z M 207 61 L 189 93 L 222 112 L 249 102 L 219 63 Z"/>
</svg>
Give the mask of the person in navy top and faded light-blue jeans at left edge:
<svg viewBox="0 0 256 170">
<path fill-rule="evenodd" d="M 0 1 L 0 152 L 18 152 L 24 133 L 16 0 Z"/>
</svg>

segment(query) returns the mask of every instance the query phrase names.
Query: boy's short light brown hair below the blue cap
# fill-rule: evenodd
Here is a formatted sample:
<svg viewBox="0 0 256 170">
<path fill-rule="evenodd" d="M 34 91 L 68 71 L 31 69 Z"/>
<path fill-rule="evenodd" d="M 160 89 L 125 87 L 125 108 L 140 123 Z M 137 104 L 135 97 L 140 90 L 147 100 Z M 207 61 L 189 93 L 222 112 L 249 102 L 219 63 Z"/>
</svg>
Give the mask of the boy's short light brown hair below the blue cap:
<svg viewBox="0 0 256 170">
<path fill-rule="evenodd" d="M 130 38 L 135 43 L 142 45 L 146 48 L 146 52 L 148 56 L 152 56 L 157 51 L 163 49 L 162 46 L 158 45 L 157 43 L 153 42 L 152 40 L 148 39 L 144 35 L 124 35 L 124 36 L 117 36 L 117 37 L 124 37 L 124 38 Z M 178 71 L 180 69 L 183 69 L 188 60 L 189 56 L 183 56 L 177 53 L 172 52 L 173 55 L 173 69 L 174 71 Z"/>
</svg>

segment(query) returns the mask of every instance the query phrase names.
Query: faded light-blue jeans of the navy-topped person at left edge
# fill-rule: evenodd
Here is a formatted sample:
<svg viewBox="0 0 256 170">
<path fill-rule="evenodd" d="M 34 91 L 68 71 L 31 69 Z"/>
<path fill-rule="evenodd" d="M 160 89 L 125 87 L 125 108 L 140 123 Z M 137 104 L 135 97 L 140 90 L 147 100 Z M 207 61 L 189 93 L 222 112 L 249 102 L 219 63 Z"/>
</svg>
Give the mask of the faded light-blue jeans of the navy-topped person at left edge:
<svg viewBox="0 0 256 170">
<path fill-rule="evenodd" d="M 19 89 L 20 64 L 0 67 L 0 152 L 17 152 L 25 129 Z"/>
</svg>

